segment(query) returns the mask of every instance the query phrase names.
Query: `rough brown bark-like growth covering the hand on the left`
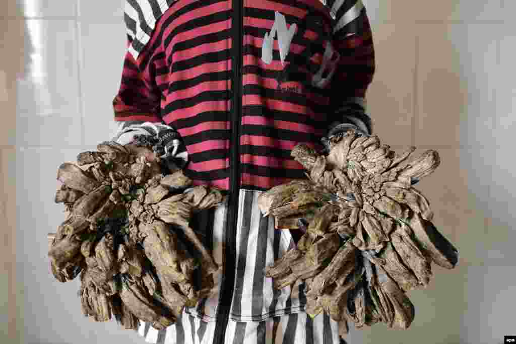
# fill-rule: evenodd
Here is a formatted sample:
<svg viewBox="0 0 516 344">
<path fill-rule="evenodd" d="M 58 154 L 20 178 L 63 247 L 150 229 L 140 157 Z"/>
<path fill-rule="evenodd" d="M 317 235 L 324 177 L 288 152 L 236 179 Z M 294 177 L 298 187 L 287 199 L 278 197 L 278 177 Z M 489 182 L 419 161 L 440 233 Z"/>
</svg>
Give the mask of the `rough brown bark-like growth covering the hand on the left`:
<svg viewBox="0 0 516 344">
<path fill-rule="evenodd" d="M 159 159 L 147 161 L 116 142 L 97 150 L 58 169 L 54 200 L 68 217 L 49 234 L 52 274 L 59 282 L 80 274 L 85 316 L 115 316 L 133 330 L 143 320 L 163 330 L 213 291 L 219 267 L 189 222 L 222 202 L 222 193 L 187 189 L 192 182 L 182 170 L 164 176 Z"/>
</svg>

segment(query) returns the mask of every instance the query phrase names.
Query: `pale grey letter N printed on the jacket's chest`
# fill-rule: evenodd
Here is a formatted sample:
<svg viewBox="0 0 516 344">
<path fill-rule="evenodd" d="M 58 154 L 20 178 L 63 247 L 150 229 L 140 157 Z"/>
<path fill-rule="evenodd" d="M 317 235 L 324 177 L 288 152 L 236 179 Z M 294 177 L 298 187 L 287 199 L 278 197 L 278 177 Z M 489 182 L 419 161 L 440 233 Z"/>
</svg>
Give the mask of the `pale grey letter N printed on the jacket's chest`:
<svg viewBox="0 0 516 344">
<path fill-rule="evenodd" d="M 280 47 L 280 59 L 281 64 L 284 64 L 285 57 L 290 50 L 290 44 L 292 42 L 292 38 L 296 34 L 296 24 L 292 24 L 289 29 L 287 29 L 287 21 L 285 20 L 285 16 L 280 12 L 276 11 L 274 13 L 274 25 L 270 29 L 270 32 L 265 32 L 265 36 L 263 38 L 262 44 L 262 61 L 269 64 L 272 61 L 272 48 L 274 46 L 274 38 L 276 34 L 278 34 L 278 45 Z"/>
</svg>

